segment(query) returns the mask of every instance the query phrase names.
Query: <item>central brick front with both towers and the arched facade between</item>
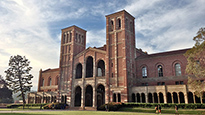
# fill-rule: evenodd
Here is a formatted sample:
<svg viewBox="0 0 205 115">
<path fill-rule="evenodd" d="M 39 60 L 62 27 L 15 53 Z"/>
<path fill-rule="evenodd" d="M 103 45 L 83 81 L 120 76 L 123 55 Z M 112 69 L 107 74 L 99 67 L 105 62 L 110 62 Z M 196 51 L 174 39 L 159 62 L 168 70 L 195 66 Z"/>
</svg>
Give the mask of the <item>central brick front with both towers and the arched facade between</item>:
<svg viewBox="0 0 205 115">
<path fill-rule="evenodd" d="M 86 49 L 85 30 L 62 29 L 58 86 L 71 107 L 131 100 L 136 76 L 134 19 L 125 10 L 107 15 L 106 45 L 99 48 Z"/>
</svg>

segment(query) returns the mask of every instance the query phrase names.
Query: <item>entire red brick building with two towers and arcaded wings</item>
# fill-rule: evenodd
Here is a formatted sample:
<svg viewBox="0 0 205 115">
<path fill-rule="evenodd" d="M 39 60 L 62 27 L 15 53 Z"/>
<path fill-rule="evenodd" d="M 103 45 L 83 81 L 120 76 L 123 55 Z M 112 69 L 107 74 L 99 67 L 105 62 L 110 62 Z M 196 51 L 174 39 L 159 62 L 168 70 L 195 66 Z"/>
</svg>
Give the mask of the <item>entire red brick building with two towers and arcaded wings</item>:
<svg viewBox="0 0 205 115">
<path fill-rule="evenodd" d="M 135 47 L 134 17 L 106 16 L 106 45 L 86 49 L 86 31 L 62 29 L 60 65 L 40 70 L 29 103 L 97 107 L 108 102 L 203 103 L 187 84 L 188 49 L 147 54 Z"/>
</svg>

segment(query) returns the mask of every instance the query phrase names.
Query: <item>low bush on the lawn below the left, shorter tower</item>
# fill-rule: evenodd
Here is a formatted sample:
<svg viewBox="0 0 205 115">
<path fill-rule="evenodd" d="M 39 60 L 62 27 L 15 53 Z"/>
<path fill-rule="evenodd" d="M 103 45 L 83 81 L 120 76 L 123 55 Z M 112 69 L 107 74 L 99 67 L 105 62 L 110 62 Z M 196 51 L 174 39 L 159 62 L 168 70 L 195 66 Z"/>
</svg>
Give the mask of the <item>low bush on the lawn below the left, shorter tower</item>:
<svg viewBox="0 0 205 115">
<path fill-rule="evenodd" d="M 43 106 L 44 109 L 66 109 L 68 104 L 65 103 L 49 103 Z"/>
</svg>

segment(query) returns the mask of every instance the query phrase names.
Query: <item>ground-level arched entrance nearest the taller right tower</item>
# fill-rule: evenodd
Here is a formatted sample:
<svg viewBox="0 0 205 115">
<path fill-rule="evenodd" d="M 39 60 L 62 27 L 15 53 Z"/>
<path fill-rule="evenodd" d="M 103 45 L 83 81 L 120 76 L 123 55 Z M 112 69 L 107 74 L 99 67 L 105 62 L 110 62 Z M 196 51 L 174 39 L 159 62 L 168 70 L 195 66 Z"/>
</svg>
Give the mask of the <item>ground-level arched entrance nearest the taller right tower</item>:
<svg viewBox="0 0 205 115">
<path fill-rule="evenodd" d="M 105 87 L 100 84 L 97 87 L 97 107 L 103 104 L 105 104 Z"/>
</svg>

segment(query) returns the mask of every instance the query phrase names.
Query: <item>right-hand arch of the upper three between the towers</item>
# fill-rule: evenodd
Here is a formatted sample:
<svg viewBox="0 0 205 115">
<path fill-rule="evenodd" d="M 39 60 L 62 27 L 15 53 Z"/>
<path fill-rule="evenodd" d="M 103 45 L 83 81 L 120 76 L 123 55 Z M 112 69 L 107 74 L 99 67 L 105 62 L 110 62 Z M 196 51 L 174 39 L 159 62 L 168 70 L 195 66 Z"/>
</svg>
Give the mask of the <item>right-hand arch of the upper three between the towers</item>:
<svg viewBox="0 0 205 115">
<path fill-rule="evenodd" d="M 98 61 L 97 76 L 105 76 L 105 62 L 103 60 Z"/>
</svg>

